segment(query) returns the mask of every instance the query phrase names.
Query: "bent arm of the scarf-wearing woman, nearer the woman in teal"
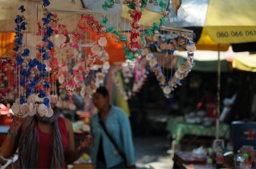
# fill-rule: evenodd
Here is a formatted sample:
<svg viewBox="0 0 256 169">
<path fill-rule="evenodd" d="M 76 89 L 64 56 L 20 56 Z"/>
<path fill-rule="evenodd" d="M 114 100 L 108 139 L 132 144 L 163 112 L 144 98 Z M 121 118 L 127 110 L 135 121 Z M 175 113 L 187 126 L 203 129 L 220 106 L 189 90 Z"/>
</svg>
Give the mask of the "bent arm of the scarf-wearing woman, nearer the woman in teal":
<svg viewBox="0 0 256 169">
<path fill-rule="evenodd" d="M 82 155 L 83 151 L 86 148 L 90 147 L 91 137 L 86 136 L 85 140 L 80 141 L 80 146 L 77 148 L 77 150 L 75 150 L 75 139 L 74 139 L 72 124 L 68 119 L 65 119 L 65 124 L 67 127 L 67 136 L 68 136 L 68 147 L 67 147 L 67 151 L 65 152 L 65 161 L 66 163 L 72 163 Z"/>
</svg>

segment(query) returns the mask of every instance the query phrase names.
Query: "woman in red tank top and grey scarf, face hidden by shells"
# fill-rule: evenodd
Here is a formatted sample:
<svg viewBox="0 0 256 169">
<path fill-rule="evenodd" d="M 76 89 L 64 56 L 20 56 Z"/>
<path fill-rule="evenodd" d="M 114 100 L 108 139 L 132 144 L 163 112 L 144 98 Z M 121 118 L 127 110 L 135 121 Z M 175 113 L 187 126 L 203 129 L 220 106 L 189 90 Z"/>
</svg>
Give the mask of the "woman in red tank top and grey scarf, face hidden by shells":
<svg viewBox="0 0 256 169">
<path fill-rule="evenodd" d="M 52 105 L 52 107 L 55 105 Z M 19 147 L 19 168 L 65 168 L 91 144 L 86 137 L 75 150 L 72 124 L 54 111 L 52 117 L 14 117 L 2 144 L 2 156 L 12 156 Z"/>
</svg>

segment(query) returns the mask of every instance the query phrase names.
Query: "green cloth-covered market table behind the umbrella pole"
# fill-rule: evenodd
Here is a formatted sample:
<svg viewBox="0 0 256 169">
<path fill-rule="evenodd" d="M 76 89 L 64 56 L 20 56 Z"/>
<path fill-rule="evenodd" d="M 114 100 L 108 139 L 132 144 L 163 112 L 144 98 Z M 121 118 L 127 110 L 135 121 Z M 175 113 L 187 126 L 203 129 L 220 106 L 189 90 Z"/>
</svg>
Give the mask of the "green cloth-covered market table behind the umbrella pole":
<svg viewBox="0 0 256 169">
<path fill-rule="evenodd" d="M 175 144 L 179 144 L 179 142 L 183 139 L 185 135 L 209 137 L 215 137 L 216 135 L 215 125 L 204 126 L 201 124 L 188 124 L 183 120 L 182 117 L 170 118 L 168 120 L 166 129 L 171 133 L 171 136 L 173 137 Z M 221 123 L 220 137 L 228 139 L 229 133 L 229 125 Z"/>
</svg>

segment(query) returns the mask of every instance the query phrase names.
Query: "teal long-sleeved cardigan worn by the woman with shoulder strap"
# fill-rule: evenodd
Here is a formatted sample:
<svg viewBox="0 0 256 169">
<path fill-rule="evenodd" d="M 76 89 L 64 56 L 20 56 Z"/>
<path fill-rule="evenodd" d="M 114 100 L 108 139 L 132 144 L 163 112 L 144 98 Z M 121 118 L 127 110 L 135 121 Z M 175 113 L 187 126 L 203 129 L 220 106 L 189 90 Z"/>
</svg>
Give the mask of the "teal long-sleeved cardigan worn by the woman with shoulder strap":
<svg viewBox="0 0 256 169">
<path fill-rule="evenodd" d="M 132 142 L 131 126 L 125 112 L 119 107 L 111 106 L 110 112 L 104 119 L 107 131 L 109 131 L 112 138 L 126 156 L 127 165 L 135 165 L 134 144 Z M 117 153 L 115 146 L 109 140 L 99 123 L 99 115 L 95 114 L 91 117 L 90 122 L 92 142 L 92 165 L 96 168 L 97 152 L 100 146 L 100 139 L 102 136 L 102 144 L 104 150 L 104 157 L 107 168 L 113 167 L 121 163 L 122 157 Z"/>
</svg>

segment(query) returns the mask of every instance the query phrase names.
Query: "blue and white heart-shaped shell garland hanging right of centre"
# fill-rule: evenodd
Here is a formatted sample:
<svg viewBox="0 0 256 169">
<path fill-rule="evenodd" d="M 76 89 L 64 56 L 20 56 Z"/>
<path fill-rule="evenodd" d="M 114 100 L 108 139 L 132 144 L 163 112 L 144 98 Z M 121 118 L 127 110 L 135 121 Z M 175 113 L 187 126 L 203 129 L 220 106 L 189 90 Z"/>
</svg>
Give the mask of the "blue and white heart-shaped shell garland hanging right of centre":
<svg viewBox="0 0 256 169">
<path fill-rule="evenodd" d="M 179 66 L 179 68 L 177 69 L 177 71 L 174 73 L 173 76 L 166 77 L 164 75 L 163 69 L 161 68 L 160 64 L 157 62 L 157 58 L 150 52 L 150 50 L 146 49 L 143 54 L 148 60 L 150 68 L 155 73 L 156 79 L 159 81 L 159 84 L 165 94 L 165 97 L 169 98 L 171 91 L 177 88 L 178 85 L 181 85 L 180 81 L 189 74 L 189 72 L 195 65 L 194 63 L 195 43 L 192 42 L 189 38 L 181 37 L 181 36 L 178 36 L 174 39 L 166 40 L 166 42 L 168 42 L 168 44 L 174 45 L 173 49 L 175 50 L 178 49 L 178 47 L 181 47 L 184 50 L 188 51 L 188 57 L 186 59 L 186 62 Z M 159 47 L 159 44 L 157 44 L 157 47 Z M 169 48 L 167 49 L 169 50 Z M 173 49 L 171 49 L 171 51 Z M 168 52 L 168 50 L 166 50 L 166 52 Z"/>
</svg>

